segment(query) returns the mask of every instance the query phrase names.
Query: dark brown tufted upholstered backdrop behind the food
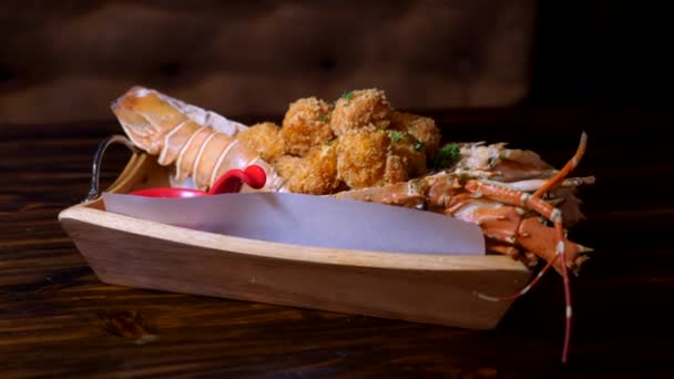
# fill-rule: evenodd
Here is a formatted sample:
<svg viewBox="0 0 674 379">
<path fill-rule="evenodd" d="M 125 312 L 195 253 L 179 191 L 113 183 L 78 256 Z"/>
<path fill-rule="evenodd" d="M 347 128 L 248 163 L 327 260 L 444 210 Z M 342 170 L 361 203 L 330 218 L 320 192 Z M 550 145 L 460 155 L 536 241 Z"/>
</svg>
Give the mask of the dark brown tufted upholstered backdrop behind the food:
<svg viewBox="0 0 674 379">
<path fill-rule="evenodd" d="M 225 115 L 379 88 L 399 109 L 508 106 L 533 0 L 0 4 L 0 123 L 109 120 L 141 84 Z"/>
</svg>

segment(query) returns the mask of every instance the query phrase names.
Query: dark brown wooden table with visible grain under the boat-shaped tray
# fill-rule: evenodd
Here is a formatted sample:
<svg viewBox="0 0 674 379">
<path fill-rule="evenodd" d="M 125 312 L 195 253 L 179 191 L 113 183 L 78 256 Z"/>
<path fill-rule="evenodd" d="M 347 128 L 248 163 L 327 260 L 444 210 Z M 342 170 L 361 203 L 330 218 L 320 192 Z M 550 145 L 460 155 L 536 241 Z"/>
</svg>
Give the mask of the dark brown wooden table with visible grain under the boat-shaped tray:
<svg viewBox="0 0 674 379">
<path fill-rule="evenodd" d="M 596 176 L 573 239 L 595 248 L 572 278 L 570 360 L 560 363 L 558 275 L 517 300 L 496 330 L 473 331 L 103 285 L 57 214 L 83 199 L 114 121 L 0 125 L 0 372 L 7 377 L 674 377 L 672 142 L 656 110 L 423 112 L 446 139 L 507 141 L 555 166 L 575 150 Z M 242 117 L 253 121 L 269 117 Z M 277 117 L 276 117 L 277 119 Z M 273 119 L 272 120 L 276 120 Z M 103 185 L 129 153 L 111 147 Z"/>
</svg>

